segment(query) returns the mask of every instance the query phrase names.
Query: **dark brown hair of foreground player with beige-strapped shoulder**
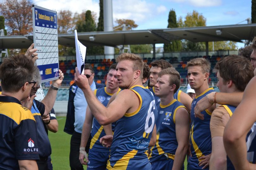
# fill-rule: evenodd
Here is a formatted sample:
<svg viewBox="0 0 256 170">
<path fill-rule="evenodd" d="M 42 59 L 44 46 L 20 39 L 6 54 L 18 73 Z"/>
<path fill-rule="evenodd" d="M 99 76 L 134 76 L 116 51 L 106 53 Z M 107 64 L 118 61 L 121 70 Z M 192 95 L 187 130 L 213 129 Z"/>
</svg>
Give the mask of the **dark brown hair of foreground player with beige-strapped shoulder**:
<svg viewBox="0 0 256 170">
<path fill-rule="evenodd" d="M 239 55 L 229 55 L 220 59 L 214 71 L 219 71 L 224 82 L 232 80 L 235 87 L 244 91 L 248 82 L 253 78 L 253 66 L 248 59 Z"/>
</svg>

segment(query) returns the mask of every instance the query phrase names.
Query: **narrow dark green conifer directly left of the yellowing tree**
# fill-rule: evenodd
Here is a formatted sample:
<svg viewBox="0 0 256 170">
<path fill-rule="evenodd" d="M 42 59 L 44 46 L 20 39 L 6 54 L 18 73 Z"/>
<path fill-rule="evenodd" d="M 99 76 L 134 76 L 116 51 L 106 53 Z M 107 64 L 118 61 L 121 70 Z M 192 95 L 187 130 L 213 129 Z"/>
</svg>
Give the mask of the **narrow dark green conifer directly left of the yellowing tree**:
<svg viewBox="0 0 256 170">
<path fill-rule="evenodd" d="M 174 9 L 171 9 L 169 12 L 168 17 L 168 26 L 167 28 L 177 28 L 178 23 L 176 20 L 176 13 Z M 171 52 L 171 51 L 180 51 L 182 48 L 180 40 L 172 40 L 168 44 L 164 44 L 164 52 Z"/>
</svg>

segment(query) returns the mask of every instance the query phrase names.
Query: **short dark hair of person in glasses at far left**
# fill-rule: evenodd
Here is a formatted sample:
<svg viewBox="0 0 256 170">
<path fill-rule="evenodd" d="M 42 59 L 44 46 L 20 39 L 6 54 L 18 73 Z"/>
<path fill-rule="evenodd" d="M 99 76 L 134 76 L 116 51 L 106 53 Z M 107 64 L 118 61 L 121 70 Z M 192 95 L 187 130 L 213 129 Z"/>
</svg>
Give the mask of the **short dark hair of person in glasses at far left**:
<svg viewBox="0 0 256 170">
<path fill-rule="evenodd" d="M 3 91 L 18 92 L 25 82 L 31 82 L 36 66 L 25 55 L 18 54 L 3 60 L 0 78 Z"/>
</svg>

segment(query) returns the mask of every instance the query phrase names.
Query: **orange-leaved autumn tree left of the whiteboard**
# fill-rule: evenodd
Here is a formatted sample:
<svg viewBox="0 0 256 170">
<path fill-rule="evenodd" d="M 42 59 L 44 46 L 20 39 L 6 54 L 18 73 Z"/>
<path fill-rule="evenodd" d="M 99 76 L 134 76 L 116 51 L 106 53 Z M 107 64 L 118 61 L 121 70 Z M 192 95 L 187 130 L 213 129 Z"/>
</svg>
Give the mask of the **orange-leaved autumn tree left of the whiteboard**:
<svg viewBox="0 0 256 170">
<path fill-rule="evenodd" d="M 0 15 L 5 18 L 9 35 L 26 35 L 33 32 L 32 2 L 29 0 L 4 0 Z"/>
</svg>

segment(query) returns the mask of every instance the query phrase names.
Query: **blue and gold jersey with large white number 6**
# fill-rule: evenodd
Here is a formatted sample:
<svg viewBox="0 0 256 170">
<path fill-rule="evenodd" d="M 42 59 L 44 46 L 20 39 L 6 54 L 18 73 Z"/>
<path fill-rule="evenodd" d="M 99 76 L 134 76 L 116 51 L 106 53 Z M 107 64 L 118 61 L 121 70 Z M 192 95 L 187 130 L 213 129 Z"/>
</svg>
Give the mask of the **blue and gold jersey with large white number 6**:
<svg viewBox="0 0 256 170">
<path fill-rule="evenodd" d="M 140 105 L 116 121 L 107 169 L 151 169 L 147 150 L 157 118 L 155 99 L 143 86 L 130 90 L 137 94 Z"/>
</svg>

